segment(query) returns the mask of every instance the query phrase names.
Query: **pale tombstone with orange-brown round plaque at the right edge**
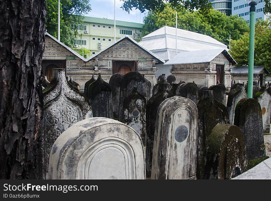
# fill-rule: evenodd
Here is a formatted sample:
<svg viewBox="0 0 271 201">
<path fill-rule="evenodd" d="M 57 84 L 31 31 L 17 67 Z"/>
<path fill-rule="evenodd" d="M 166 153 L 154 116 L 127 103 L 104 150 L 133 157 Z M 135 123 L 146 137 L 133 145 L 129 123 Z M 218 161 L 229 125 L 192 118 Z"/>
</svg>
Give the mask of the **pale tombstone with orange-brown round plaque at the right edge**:
<svg viewBox="0 0 271 201">
<path fill-rule="evenodd" d="M 271 112 L 271 95 L 267 92 L 265 86 L 261 86 L 261 90 L 259 90 L 254 97 L 261 106 L 261 114 L 263 119 L 263 132 L 270 132 L 270 112 Z"/>
</svg>

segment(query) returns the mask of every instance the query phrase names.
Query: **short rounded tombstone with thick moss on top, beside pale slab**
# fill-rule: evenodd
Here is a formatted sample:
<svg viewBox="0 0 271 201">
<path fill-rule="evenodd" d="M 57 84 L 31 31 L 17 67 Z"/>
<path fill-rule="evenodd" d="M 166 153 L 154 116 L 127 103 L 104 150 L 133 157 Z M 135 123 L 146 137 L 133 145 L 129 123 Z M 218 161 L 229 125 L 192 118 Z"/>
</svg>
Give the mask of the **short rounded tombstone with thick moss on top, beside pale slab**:
<svg viewBox="0 0 271 201">
<path fill-rule="evenodd" d="M 231 179 L 246 171 L 245 139 L 240 128 L 216 124 L 206 139 L 203 179 Z"/>
</svg>

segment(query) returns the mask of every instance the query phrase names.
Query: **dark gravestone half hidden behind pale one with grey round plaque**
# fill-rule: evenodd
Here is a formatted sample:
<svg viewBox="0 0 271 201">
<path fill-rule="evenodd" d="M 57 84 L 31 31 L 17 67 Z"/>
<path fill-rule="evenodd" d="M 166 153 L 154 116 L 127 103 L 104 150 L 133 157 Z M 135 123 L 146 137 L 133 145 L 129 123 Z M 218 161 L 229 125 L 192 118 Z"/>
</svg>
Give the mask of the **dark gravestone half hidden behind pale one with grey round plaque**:
<svg viewBox="0 0 271 201">
<path fill-rule="evenodd" d="M 157 109 L 166 98 L 173 95 L 168 91 L 168 84 L 161 83 L 158 92 L 153 95 L 146 107 L 146 176 L 151 177 L 152 172 L 152 148 L 155 132 Z"/>
</svg>

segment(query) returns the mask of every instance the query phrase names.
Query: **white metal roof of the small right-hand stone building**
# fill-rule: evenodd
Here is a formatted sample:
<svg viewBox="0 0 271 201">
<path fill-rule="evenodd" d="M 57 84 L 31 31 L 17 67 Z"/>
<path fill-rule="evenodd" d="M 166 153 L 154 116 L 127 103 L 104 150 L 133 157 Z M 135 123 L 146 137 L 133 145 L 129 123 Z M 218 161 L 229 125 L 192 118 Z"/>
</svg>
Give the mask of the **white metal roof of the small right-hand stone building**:
<svg viewBox="0 0 271 201">
<path fill-rule="evenodd" d="M 189 51 L 181 52 L 177 54 L 174 58 L 170 59 L 164 65 L 176 65 L 176 64 L 190 64 L 190 63 L 207 63 L 211 62 L 217 55 L 223 53 L 224 56 L 233 64 L 236 61 L 228 53 L 227 50 L 223 48 L 211 49 L 211 50 L 198 50 L 198 51 Z"/>
</svg>

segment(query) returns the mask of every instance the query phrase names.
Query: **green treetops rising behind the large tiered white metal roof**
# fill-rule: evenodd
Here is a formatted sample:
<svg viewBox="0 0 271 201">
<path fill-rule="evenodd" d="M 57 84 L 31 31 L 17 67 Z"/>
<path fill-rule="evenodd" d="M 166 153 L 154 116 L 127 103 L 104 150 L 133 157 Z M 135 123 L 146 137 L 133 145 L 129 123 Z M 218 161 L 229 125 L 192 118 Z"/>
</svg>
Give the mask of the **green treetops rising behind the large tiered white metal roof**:
<svg viewBox="0 0 271 201">
<path fill-rule="evenodd" d="M 142 36 L 155 31 L 162 26 L 175 27 L 175 10 L 167 4 L 162 12 L 149 11 L 144 17 Z M 180 29 L 205 34 L 216 40 L 229 44 L 229 35 L 232 39 L 239 39 L 248 31 L 247 22 L 236 15 L 227 16 L 217 10 L 189 11 L 180 9 L 177 12 L 177 27 Z"/>
</svg>

